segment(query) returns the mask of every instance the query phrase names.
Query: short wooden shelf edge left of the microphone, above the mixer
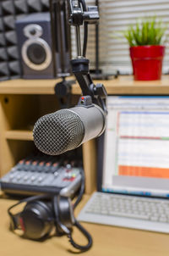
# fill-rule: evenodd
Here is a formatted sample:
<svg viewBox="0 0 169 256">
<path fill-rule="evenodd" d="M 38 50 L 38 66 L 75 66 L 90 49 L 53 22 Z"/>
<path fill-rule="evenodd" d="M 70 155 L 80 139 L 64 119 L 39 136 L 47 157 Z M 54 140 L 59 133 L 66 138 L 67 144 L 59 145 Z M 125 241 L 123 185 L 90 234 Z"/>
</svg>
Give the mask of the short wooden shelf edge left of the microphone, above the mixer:
<svg viewBox="0 0 169 256">
<path fill-rule="evenodd" d="M 33 141 L 32 131 L 11 130 L 5 131 L 5 138 L 8 140 Z"/>
</svg>

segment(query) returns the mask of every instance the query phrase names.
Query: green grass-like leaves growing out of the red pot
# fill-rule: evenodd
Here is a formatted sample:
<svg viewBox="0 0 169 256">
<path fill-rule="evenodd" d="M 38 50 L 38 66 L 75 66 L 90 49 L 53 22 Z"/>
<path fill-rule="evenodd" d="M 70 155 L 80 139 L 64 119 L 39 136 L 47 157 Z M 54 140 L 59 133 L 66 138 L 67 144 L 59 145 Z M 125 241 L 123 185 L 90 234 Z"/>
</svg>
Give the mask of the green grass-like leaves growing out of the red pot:
<svg viewBox="0 0 169 256">
<path fill-rule="evenodd" d="M 161 20 L 155 17 L 145 18 L 138 21 L 136 25 L 131 25 L 123 36 L 128 40 L 129 46 L 160 45 L 165 34 L 166 27 Z"/>
</svg>

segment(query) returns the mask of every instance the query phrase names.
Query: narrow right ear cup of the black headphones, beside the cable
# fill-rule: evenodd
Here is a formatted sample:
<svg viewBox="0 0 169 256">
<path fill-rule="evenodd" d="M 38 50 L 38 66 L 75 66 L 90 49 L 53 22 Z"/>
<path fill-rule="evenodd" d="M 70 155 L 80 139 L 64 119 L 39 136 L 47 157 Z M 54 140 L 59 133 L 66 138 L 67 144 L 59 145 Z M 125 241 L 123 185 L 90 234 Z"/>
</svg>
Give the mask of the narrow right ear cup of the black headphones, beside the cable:
<svg viewBox="0 0 169 256">
<path fill-rule="evenodd" d="M 71 228 L 74 225 L 74 209 L 70 198 L 60 197 L 58 201 L 59 220 L 63 225 Z"/>
</svg>

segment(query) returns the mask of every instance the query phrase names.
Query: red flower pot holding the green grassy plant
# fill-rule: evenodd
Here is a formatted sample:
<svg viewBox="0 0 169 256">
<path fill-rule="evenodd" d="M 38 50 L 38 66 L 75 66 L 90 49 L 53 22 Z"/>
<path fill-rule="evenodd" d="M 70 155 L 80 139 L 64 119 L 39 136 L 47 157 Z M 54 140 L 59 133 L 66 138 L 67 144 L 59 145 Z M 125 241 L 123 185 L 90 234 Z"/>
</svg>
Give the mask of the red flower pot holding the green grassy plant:
<svg viewBox="0 0 169 256">
<path fill-rule="evenodd" d="M 159 45 L 130 47 L 134 80 L 160 80 L 164 53 L 165 47 Z"/>
</svg>

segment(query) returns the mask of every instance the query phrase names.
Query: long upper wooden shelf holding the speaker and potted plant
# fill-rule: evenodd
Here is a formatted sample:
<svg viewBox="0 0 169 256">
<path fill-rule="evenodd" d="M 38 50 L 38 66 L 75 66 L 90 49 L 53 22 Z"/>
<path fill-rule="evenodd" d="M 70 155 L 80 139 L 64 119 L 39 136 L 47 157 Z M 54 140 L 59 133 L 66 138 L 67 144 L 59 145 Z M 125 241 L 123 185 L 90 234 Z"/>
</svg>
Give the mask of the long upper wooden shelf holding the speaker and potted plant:
<svg viewBox="0 0 169 256">
<path fill-rule="evenodd" d="M 68 77 L 68 80 L 73 80 Z M 55 80 L 12 80 L 0 82 L 0 94 L 54 94 L 54 86 L 61 79 Z M 106 86 L 108 94 L 169 94 L 169 75 L 163 75 L 161 81 L 134 81 L 132 75 L 121 75 L 117 79 L 95 81 Z M 73 94 L 81 94 L 76 83 Z"/>
</svg>

